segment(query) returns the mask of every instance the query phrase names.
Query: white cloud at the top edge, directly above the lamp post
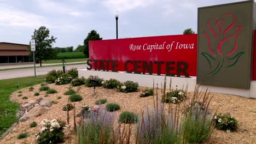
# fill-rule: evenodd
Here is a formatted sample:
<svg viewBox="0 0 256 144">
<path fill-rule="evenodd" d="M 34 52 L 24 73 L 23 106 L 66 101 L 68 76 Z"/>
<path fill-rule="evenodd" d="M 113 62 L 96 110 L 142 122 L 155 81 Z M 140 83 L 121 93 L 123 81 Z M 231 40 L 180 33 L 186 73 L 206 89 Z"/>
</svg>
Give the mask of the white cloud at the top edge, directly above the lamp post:
<svg viewBox="0 0 256 144">
<path fill-rule="evenodd" d="M 103 4 L 111 11 L 127 11 L 135 8 L 145 8 L 154 0 L 106 0 Z"/>
</svg>

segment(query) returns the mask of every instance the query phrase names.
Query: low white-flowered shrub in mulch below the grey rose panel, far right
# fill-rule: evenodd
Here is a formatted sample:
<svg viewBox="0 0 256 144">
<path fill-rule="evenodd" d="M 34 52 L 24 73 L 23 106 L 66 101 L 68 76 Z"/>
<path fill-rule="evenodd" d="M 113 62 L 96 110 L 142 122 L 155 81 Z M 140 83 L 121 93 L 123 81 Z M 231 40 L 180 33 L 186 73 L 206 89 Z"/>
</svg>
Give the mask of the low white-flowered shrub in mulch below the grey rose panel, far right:
<svg viewBox="0 0 256 144">
<path fill-rule="evenodd" d="M 220 130 L 235 131 L 237 129 L 237 121 L 234 117 L 228 114 L 218 114 L 214 117 L 215 127 Z"/>
</svg>

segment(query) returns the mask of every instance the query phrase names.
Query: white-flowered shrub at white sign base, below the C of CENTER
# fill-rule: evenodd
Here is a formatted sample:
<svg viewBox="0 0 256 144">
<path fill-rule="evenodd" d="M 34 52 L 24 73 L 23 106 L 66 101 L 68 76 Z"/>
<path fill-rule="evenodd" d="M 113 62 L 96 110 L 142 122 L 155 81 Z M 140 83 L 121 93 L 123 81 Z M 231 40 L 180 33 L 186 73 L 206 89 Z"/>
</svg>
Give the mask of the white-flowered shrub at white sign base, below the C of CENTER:
<svg viewBox="0 0 256 144">
<path fill-rule="evenodd" d="M 117 86 L 117 91 L 123 92 L 123 93 L 136 92 L 137 89 L 138 89 L 138 83 L 133 81 L 126 81 L 124 83 L 120 83 Z"/>
</svg>

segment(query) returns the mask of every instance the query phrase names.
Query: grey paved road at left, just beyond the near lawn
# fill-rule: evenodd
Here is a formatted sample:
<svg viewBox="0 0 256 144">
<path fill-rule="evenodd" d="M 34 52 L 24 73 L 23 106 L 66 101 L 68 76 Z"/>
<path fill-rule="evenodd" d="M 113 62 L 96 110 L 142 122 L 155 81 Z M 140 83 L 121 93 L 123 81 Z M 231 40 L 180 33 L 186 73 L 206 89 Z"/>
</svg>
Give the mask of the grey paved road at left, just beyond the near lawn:
<svg viewBox="0 0 256 144">
<path fill-rule="evenodd" d="M 67 70 L 71 69 L 71 68 L 85 69 L 86 67 L 87 67 L 86 64 L 66 65 Z M 61 69 L 62 70 L 62 66 L 36 68 L 36 74 L 44 75 L 53 69 L 55 69 L 55 70 Z M 34 68 L 0 71 L 0 80 L 11 79 L 11 78 L 16 78 L 16 77 L 25 77 L 25 76 L 34 76 Z"/>
</svg>

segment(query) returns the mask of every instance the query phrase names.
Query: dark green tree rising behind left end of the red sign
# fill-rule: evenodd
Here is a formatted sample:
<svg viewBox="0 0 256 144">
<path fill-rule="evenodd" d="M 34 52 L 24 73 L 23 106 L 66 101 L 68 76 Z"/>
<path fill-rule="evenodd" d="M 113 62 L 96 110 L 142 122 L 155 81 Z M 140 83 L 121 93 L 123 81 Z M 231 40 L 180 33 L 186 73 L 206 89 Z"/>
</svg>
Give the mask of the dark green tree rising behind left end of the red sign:
<svg viewBox="0 0 256 144">
<path fill-rule="evenodd" d="M 84 39 L 83 50 L 83 53 L 86 57 L 89 57 L 89 40 L 102 40 L 102 38 L 100 37 L 100 34 L 98 34 L 95 30 L 92 30 L 90 33 L 88 33 L 86 39 Z"/>
</svg>

